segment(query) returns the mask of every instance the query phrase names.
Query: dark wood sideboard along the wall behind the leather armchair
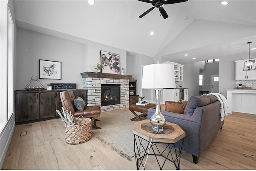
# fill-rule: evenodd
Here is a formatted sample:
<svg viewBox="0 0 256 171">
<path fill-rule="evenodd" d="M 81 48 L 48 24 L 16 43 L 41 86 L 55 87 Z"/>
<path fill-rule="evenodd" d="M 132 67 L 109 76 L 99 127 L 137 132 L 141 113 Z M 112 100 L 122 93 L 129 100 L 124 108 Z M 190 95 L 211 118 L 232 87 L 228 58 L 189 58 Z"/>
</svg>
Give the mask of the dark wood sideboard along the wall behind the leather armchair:
<svg viewBox="0 0 256 171">
<path fill-rule="evenodd" d="M 60 92 L 65 90 L 16 90 L 15 121 L 16 124 L 43 121 L 60 117 L 56 109 L 61 110 Z M 86 98 L 86 89 L 73 89 L 75 97 Z"/>
</svg>

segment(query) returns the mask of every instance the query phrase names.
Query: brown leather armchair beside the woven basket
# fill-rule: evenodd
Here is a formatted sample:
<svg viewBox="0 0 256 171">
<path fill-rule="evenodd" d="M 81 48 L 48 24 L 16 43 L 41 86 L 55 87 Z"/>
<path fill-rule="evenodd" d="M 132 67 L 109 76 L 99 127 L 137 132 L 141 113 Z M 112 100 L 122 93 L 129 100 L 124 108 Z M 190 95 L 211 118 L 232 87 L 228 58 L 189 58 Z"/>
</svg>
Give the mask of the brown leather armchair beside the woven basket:
<svg viewBox="0 0 256 171">
<path fill-rule="evenodd" d="M 75 95 L 72 90 L 60 92 L 60 99 L 64 109 L 71 111 L 71 114 L 74 117 L 82 115 L 83 117 L 90 118 L 92 121 L 94 121 L 94 125 L 92 125 L 92 127 L 95 129 L 101 129 L 100 127 L 96 126 L 96 120 L 98 120 L 97 118 L 100 117 L 100 106 L 87 106 L 87 96 L 86 99 L 84 99 L 86 106 L 84 107 L 83 111 L 76 109 L 74 105 Z"/>
</svg>

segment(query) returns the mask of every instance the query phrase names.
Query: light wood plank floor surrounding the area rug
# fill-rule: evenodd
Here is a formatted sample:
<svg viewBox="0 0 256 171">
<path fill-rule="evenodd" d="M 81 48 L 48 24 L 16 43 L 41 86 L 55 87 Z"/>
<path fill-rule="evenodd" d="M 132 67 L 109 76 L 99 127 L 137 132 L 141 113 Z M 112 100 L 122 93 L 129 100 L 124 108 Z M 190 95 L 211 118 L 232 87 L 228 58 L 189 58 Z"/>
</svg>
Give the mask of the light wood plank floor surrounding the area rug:
<svg viewBox="0 0 256 171">
<path fill-rule="evenodd" d="M 102 112 L 102 115 L 124 111 L 129 110 Z M 27 134 L 20 136 L 25 131 Z M 136 164 L 134 158 L 128 161 L 120 157 L 94 137 L 80 145 L 66 144 L 64 123 L 52 119 L 16 125 L 1 169 L 133 170 Z M 158 169 L 153 158 L 148 158 L 146 169 Z M 174 167 L 166 163 L 164 169 Z M 192 162 L 191 154 L 183 151 L 181 169 L 256 169 L 256 115 L 228 114 L 223 128 L 202 153 L 198 164 Z"/>
</svg>

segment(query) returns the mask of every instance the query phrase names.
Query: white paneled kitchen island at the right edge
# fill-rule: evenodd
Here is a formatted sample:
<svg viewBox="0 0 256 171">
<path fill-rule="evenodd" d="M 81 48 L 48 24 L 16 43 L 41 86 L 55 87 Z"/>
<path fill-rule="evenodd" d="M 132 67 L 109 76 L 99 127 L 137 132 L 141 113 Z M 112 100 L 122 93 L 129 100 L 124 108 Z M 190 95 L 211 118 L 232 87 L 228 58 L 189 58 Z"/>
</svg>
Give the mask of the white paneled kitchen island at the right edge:
<svg viewBox="0 0 256 171">
<path fill-rule="evenodd" d="M 256 114 L 256 89 L 227 89 L 228 113 Z"/>
</svg>

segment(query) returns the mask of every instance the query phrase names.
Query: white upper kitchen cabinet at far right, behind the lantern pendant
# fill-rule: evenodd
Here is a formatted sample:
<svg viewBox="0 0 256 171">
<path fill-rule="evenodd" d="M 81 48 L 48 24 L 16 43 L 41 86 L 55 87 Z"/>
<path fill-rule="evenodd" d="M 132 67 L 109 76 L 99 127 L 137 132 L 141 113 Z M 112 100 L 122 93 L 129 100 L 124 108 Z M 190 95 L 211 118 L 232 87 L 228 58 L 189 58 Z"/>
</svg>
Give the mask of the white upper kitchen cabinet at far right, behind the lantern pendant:
<svg viewBox="0 0 256 171">
<path fill-rule="evenodd" d="M 256 60 L 250 59 L 250 60 Z M 244 61 L 247 60 L 237 60 L 236 62 L 236 80 L 256 80 L 256 70 L 244 71 Z"/>
</svg>

